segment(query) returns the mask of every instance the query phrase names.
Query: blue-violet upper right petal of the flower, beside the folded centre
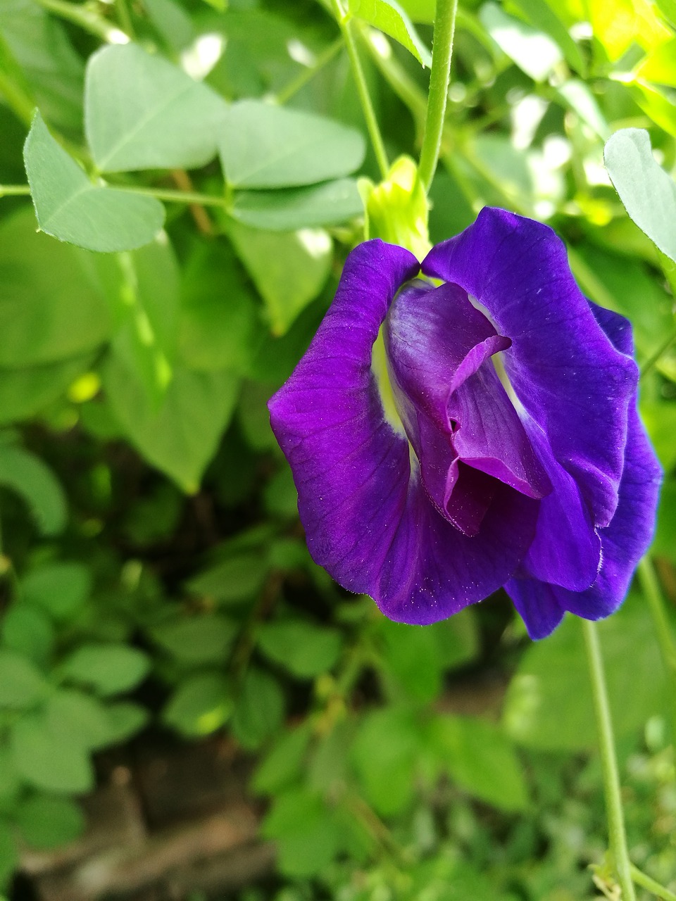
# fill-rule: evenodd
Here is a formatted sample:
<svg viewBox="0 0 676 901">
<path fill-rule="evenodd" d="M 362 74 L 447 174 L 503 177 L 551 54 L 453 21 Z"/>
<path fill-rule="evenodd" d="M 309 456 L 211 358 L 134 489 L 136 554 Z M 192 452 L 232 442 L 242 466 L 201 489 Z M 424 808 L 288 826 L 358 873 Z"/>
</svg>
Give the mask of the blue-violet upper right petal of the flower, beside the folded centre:
<svg viewBox="0 0 676 901">
<path fill-rule="evenodd" d="M 511 339 L 503 356 L 516 396 L 579 484 L 594 524 L 607 525 L 636 369 L 591 314 L 562 241 L 541 223 L 485 207 L 430 251 L 423 271 L 476 297 Z"/>
</svg>

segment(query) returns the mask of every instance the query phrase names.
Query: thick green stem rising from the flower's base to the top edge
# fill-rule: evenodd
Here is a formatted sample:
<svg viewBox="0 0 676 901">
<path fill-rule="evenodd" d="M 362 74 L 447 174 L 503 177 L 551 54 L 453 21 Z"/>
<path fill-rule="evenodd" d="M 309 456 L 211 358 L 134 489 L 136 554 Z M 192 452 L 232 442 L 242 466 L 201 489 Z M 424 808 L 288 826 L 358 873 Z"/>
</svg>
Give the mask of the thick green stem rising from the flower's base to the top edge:
<svg viewBox="0 0 676 901">
<path fill-rule="evenodd" d="M 458 0 L 436 0 L 434 18 L 434 44 L 432 47 L 432 72 L 430 90 L 427 95 L 427 114 L 423 147 L 420 151 L 420 180 L 429 193 L 442 146 L 443 120 L 446 115 L 446 100 L 451 79 L 451 57 L 453 52 L 453 32 Z"/>
</svg>

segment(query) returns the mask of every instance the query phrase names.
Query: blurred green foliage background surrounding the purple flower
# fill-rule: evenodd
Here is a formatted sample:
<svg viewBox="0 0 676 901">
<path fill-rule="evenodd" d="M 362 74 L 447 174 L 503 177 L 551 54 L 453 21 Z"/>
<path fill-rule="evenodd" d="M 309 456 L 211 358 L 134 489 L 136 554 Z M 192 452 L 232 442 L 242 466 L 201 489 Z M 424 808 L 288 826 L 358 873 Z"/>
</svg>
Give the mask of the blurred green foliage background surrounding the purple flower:
<svg viewBox="0 0 676 901">
<path fill-rule="evenodd" d="M 350 5 L 389 159 L 416 156 L 434 0 L 410 19 Z M 462 0 L 430 215 L 433 241 L 487 204 L 551 224 L 587 296 L 631 318 L 670 614 L 676 268 L 603 146 L 645 128 L 674 170 L 674 24 L 674 0 Z M 4 185 L 26 184 L 36 105 L 48 233 L 29 196 L 0 201 L 6 896 L 610 892 L 589 869 L 606 827 L 577 623 L 533 644 L 498 594 L 396 625 L 306 551 L 266 401 L 361 240 L 354 178 L 379 178 L 328 5 L 0 0 Z M 164 210 L 138 188 L 214 203 L 167 200 L 155 239 Z M 642 587 L 600 633 L 631 854 L 676 891 L 674 718 Z"/>
</svg>

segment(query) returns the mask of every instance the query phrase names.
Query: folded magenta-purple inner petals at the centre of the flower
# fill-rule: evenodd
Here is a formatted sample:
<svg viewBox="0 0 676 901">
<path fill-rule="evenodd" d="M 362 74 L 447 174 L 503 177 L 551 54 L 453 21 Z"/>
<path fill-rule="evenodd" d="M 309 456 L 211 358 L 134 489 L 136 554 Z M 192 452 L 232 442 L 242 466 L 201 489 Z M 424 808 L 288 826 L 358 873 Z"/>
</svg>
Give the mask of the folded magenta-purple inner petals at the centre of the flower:
<svg viewBox="0 0 676 901">
<path fill-rule="evenodd" d="M 551 490 L 490 361 L 510 341 L 460 287 L 416 279 L 390 306 L 383 333 L 397 412 L 445 519 L 477 534 L 496 479 L 533 498 Z"/>
</svg>

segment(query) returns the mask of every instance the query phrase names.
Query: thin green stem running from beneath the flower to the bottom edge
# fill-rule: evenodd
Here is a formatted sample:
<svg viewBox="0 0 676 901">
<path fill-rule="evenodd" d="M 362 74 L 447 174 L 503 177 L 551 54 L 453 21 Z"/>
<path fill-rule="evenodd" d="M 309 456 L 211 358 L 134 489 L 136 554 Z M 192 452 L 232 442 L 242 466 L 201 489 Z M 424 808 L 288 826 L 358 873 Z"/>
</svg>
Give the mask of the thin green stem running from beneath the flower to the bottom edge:
<svg viewBox="0 0 676 901">
<path fill-rule="evenodd" d="M 636 901 L 634 883 L 631 878 L 631 861 L 629 860 L 629 851 L 626 844 L 625 817 L 622 811 L 622 796 L 620 794 L 619 773 L 615 755 L 613 724 L 610 719 L 610 705 L 608 704 L 601 649 L 598 643 L 597 625 L 589 622 L 589 620 L 582 620 L 581 623 L 587 648 L 591 694 L 594 701 L 594 713 L 596 714 L 598 729 L 598 750 L 600 751 L 601 768 L 603 769 L 610 853 L 613 857 L 617 882 L 622 889 L 622 901 Z"/>
</svg>

